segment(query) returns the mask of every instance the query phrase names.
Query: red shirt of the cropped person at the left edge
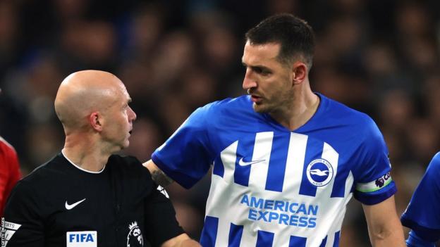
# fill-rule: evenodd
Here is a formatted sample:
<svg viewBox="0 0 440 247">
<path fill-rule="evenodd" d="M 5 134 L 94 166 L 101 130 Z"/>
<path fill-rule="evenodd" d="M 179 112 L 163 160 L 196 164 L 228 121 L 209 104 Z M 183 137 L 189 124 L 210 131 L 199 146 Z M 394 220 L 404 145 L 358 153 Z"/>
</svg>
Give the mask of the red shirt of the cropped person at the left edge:
<svg viewBox="0 0 440 247">
<path fill-rule="evenodd" d="M 3 217 L 4 205 L 11 189 L 20 177 L 16 150 L 3 137 L 0 137 L 0 217 Z"/>
</svg>

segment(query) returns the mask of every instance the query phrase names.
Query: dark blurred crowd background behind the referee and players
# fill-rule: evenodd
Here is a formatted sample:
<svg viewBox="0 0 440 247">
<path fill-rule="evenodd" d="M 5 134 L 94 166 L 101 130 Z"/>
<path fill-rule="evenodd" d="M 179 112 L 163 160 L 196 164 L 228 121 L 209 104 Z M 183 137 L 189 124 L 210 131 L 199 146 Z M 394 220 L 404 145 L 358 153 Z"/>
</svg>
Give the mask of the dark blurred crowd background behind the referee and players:
<svg viewBox="0 0 440 247">
<path fill-rule="evenodd" d="M 245 94 L 244 33 L 281 12 L 316 32 L 312 89 L 377 121 L 403 213 L 440 149 L 437 0 L 1 0 L 0 135 L 27 175 L 63 146 L 53 107 L 59 83 L 78 70 L 107 70 L 126 84 L 138 113 L 125 153 L 145 161 L 195 108 Z M 198 239 L 209 175 L 193 189 L 168 190 Z M 369 246 L 355 200 L 341 246 Z"/>
</svg>

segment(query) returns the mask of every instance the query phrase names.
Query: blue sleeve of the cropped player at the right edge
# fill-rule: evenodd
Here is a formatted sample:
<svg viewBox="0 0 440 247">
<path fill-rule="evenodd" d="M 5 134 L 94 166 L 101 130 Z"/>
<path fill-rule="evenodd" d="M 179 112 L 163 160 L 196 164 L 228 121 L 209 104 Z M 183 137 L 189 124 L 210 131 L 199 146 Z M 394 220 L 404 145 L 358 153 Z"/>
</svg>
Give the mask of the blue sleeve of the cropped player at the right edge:
<svg viewBox="0 0 440 247">
<path fill-rule="evenodd" d="M 440 153 L 436 153 L 401 217 L 422 239 L 440 239 Z"/>
</svg>

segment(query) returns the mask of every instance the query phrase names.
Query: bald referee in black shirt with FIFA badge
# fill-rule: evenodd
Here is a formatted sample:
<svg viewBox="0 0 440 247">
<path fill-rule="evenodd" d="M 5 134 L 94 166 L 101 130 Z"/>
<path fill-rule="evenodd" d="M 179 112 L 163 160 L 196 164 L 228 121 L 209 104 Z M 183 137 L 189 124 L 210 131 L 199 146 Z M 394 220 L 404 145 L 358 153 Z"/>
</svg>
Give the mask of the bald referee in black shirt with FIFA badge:
<svg viewBox="0 0 440 247">
<path fill-rule="evenodd" d="M 66 77 L 55 110 L 64 148 L 22 179 L 2 219 L 1 246 L 200 246 L 129 144 L 136 114 L 115 75 L 97 70 Z"/>
</svg>

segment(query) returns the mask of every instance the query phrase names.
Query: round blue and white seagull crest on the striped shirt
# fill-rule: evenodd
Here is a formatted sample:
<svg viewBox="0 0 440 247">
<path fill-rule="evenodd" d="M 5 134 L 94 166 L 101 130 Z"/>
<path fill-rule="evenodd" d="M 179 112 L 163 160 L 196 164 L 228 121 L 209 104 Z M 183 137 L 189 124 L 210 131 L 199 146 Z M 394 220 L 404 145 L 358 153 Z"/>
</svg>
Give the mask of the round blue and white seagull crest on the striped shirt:
<svg viewBox="0 0 440 247">
<path fill-rule="evenodd" d="M 307 179 L 314 186 L 325 186 L 333 178 L 333 167 L 323 158 L 312 160 L 307 165 Z"/>
</svg>

